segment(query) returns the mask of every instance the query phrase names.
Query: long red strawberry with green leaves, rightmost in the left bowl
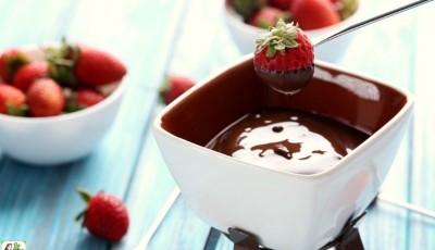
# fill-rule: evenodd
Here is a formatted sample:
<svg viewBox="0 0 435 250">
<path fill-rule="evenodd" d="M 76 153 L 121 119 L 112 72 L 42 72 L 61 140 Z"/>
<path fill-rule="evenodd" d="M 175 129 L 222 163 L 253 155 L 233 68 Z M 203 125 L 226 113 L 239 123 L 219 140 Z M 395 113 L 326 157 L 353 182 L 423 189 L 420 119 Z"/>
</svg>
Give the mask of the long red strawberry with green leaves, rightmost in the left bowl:
<svg viewBox="0 0 435 250">
<path fill-rule="evenodd" d="M 125 65 L 115 57 L 97 49 L 69 45 L 48 48 L 50 76 L 64 86 L 101 86 L 121 80 L 127 73 Z"/>
</svg>

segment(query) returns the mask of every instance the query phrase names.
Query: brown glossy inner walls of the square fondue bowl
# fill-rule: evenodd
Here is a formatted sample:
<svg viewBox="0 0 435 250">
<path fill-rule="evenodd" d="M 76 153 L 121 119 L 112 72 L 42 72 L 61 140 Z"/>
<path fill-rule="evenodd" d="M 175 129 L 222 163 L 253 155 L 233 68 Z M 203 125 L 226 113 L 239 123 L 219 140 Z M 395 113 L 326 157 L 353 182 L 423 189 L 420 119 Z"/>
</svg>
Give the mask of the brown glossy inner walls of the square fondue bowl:
<svg viewBox="0 0 435 250">
<path fill-rule="evenodd" d="M 247 113 L 279 108 L 320 114 L 372 135 L 406 101 L 402 93 L 388 86 L 319 65 L 301 91 L 285 95 L 266 86 L 248 59 L 181 100 L 163 114 L 161 126 L 176 137 L 204 147 Z"/>
</svg>

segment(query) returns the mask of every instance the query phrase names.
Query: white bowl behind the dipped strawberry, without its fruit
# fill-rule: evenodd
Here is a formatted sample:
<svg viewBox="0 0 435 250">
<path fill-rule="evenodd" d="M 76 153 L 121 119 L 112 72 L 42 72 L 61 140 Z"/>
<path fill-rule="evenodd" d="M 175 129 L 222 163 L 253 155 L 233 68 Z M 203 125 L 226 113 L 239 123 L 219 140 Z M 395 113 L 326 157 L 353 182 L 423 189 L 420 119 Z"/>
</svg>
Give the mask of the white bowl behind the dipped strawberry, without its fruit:
<svg viewBox="0 0 435 250">
<path fill-rule="evenodd" d="M 251 53 L 256 48 L 256 39 L 259 38 L 261 28 L 248 25 L 243 22 L 243 18 L 237 14 L 234 9 L 224 0 L 224 18 L 228 27 L 229 34 L 233 36 L 237 47 L 244 54 Z M 352 24 L 355 24 L 361 13 L 363 0 L 360 1 L 358 10 L 345 21 L 319 29 L 304 30 L 306 34 L 314 41 L 316 38 L 338 32 Z M 337 62 L 338 59 L 346 52 L 347 47 L 351 43 L 353 33 L 349 33 L 334 40 L 331 40 L 322 46 L 315 48 L 315 58 L 326 62 Z"/>
</svg>

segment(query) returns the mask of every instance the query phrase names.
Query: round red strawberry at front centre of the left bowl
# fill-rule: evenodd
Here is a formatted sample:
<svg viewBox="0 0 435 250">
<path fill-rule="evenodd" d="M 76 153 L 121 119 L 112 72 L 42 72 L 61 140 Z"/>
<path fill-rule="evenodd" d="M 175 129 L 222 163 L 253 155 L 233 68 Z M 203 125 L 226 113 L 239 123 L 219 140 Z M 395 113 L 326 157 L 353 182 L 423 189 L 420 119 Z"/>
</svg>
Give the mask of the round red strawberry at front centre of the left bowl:
<svg viewBox="0 0 435 250">
<path fill-rule="evenodd" d="M 58 83 L 53 79 L 41 78 L 28 88 L 27 104 L 33 116 L 53 116 L 62 112 L 65 98 Z"/>
</svg>

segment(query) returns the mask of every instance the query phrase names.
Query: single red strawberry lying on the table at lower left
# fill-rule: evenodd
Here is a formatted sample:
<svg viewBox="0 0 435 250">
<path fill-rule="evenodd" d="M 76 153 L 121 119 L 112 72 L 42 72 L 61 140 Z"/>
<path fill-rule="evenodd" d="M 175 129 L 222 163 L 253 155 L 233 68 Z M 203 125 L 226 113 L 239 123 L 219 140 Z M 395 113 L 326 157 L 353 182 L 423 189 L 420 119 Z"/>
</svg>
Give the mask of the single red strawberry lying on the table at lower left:
<svg viewBox="0 0 435 250">
<path fill-rule="evenodd" d="M 128 230 L 128 211 L 122 200 L 102 191 L 94 197 L 84 190 L 77 191 L 88 205 L 76 221 L 85 217 L 83 225 L 97 237 L 121 240 Z"/>
</svg>

